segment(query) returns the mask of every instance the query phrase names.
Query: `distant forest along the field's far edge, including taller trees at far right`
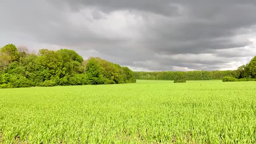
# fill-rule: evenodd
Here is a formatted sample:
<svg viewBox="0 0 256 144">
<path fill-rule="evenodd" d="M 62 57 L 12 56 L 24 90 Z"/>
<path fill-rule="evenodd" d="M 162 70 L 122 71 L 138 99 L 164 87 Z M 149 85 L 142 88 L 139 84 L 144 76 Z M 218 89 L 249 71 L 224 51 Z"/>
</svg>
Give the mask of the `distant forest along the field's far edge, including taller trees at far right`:
<svg viewBox="0 0 256 144">
<path fill-rule="evenodd" d="M 180 72 L 134 72 L 136 79 L 145 80 L 174 80 Z M 246 65 L 237 70 L 227 71 L 189 71 L 184 72 L 186 80 L 221 80 L 224 77 L 233 77 L 241 81 L 256 79 L 256 56 Z M 243 79 L 243 80 L 242 80 Z"/>
</svg>

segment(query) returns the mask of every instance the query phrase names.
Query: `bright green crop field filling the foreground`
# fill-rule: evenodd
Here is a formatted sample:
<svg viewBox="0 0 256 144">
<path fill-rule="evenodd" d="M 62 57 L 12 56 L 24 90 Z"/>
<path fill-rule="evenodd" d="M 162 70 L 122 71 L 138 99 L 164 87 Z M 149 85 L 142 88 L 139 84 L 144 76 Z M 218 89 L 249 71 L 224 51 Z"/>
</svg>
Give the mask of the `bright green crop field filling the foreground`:
<svg viewBox="0 0 256 144">
<path fill-rule="evenodd" d="M 0 89 L 3 144 L 255 144 L 256 82 Z"/>
</svg>

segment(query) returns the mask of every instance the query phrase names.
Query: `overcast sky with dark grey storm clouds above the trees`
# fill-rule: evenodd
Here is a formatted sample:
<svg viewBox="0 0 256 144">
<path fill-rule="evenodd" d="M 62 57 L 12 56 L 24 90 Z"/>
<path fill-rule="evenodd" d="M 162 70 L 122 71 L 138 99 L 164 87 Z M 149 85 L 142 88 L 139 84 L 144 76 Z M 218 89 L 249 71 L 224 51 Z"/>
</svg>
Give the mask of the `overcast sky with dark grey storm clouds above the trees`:
<svg viewBox="0 0 256 144">
<path fill-rule="evenodd" d="M 0 47 L 73 49 L 134 71 L 233 70 L 256 56 L 256 0 L 0 0 Z"/>
</svg>

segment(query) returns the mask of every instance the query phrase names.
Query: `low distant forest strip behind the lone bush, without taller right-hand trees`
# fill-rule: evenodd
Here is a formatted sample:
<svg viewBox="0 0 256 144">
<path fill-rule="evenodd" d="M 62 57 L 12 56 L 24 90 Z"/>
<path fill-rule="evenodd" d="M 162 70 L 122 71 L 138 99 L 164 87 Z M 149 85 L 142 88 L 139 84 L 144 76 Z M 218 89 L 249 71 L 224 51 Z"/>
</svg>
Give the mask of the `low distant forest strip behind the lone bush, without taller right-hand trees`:
<svg viewBox="0 0 256 144">
<path fill-rule="evenodd" d="M 136 79 L 174 80 L 179 72 L 134 72 Z M 184 72 L 186 80 L 220 80 L 225 76 L 236 77 L 236 71 L 189 71 Z"/>
</svg>

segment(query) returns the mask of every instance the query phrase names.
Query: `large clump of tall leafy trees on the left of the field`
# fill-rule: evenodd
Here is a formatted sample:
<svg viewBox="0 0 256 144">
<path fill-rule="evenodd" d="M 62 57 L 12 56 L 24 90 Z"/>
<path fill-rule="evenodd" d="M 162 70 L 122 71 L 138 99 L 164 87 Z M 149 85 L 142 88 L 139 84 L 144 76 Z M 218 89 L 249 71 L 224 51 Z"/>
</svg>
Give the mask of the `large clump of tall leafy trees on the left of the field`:
<svg viewBox="0 0 256 144">
<path fill-rule="evenodd" d="M 74 50 L 41 49 L 32 54 L 13 44 L 0 48 L 0 88 L 133 82 L 129 68 L 98 57 L 84 60 Z"/>
</svg>

